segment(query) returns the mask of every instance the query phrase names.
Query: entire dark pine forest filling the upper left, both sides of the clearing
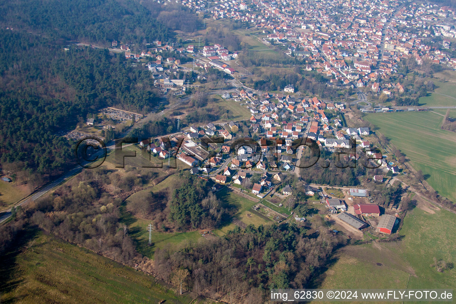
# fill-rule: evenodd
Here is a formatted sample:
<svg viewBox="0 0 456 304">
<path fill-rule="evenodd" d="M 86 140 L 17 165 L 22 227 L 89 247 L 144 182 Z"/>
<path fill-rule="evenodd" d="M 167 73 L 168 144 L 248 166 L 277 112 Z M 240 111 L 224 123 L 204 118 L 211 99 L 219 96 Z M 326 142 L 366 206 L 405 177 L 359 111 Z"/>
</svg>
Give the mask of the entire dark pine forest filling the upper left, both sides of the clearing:
<svg viewBox="0 0 456 304">
<path fill-rule="evenodd" d="M 71 143 L 56 133 L 99 108 L 146 113 L 157 106 L 150 73 L 75 41 L 108 47 L 116 40 L 143 50 L 155 40 L 172 43 L 171 30 L 201 23 L 187 8 L 151 1 L 21 0 L 0 8 L 0 161 L 21 175 L 72 166 Z"/>
</svg>

